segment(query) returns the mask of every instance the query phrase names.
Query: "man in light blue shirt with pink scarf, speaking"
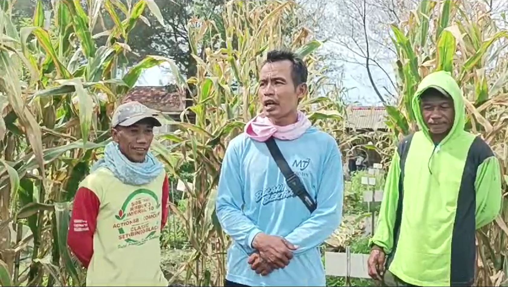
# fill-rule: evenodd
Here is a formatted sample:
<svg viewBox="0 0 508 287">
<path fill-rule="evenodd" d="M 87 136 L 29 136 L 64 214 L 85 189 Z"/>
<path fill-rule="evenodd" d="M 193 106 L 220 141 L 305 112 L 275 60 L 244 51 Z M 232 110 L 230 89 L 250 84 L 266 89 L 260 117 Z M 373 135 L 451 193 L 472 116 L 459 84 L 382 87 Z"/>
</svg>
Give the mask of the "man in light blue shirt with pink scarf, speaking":
<svg viewBox="0 0 508 287">
<path fill-rule="evenodd" d="M 319 246 L 341 221 L 342 161 L 335 139 L 298 111 L 306 81 L 297 55 L 269 52 L 260 72 L 263 112 L 226 150 L 216 202 L 233 239 L 226 286 L 325 286 Z M 288 165 L 284 173 L 273 145 Z M 288 170 L 307 198 L 290 188 Z"/>
</svg>

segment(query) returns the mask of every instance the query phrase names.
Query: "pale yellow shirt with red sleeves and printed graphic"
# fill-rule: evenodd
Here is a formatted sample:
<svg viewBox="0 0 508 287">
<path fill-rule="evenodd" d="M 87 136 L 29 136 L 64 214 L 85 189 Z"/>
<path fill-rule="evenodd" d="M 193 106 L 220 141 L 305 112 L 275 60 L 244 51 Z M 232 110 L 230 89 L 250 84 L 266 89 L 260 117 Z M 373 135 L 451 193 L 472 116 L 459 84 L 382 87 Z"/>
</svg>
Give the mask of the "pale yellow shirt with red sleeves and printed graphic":
<svg viewBox="0 0 508 287">
<path fill-rule="evenodd" d="M 168 285 L 160 267 L 159 241 L 168 189 L 164 172 L 149 184 L 133 186 L 100 168 L 81 182 L 68 243 L 88 264 L 87 286 Z"/>
</svg>

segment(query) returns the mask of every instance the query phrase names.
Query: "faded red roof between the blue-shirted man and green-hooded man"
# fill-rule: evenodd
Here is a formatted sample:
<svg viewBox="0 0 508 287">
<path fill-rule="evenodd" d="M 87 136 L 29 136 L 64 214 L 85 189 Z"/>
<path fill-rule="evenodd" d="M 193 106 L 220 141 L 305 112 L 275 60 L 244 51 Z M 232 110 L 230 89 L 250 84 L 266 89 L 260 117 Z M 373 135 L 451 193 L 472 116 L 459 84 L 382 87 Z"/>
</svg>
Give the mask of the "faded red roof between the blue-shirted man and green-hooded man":
<svg viewBox="0 0 508 287">
<path fill-rule="evenodd" d="M 385 107 L 351 107 L 347 110 L 346 126 L 351 129 L 387 129 Z"/>
</svg>

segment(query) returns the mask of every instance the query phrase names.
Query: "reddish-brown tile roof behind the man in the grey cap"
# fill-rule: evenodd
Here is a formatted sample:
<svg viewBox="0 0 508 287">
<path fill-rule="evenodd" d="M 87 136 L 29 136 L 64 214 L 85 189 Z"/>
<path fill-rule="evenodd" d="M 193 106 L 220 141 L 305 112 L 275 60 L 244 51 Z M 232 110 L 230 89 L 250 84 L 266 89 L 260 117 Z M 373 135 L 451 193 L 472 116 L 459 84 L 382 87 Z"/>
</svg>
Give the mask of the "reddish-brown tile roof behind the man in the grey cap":
<svg viewBox="0 0 508 287">
<path fill-rule="evenodd" d="M 138 101 L 161 112 L 181 112 L 185 109 L 184 90 L 176 86 L 137 86 L 125 95 L 122 103 Z"/>
</svg>

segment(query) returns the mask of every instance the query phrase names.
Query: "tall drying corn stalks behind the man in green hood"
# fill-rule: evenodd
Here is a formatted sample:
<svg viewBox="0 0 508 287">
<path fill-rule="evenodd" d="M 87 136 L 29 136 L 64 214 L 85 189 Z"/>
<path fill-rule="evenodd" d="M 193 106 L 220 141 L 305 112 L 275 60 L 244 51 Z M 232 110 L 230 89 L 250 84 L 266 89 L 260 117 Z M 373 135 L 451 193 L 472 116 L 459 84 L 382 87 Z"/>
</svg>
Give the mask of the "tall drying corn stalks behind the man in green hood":
<svg viewBox="0 0 508 287">
<path fill-rule="evenodd" d="M 450 71 L 464 94 L 466 129 L 492 147 L 507 180 L 508 30 L 496 21 L 484 2 L 423 0 L 408 19 L 392 25 L 400 98 L 398 107 L 387 111 L 394 136 L 414 132 L 410 102 L 419 82 L 433 71 Z M 506 191 L 505 183 L 503 188 Z M 506 211 L 504 207 L 493 224 L 477 232 L 477 285 L 507 282 Z"/>
</svg>

